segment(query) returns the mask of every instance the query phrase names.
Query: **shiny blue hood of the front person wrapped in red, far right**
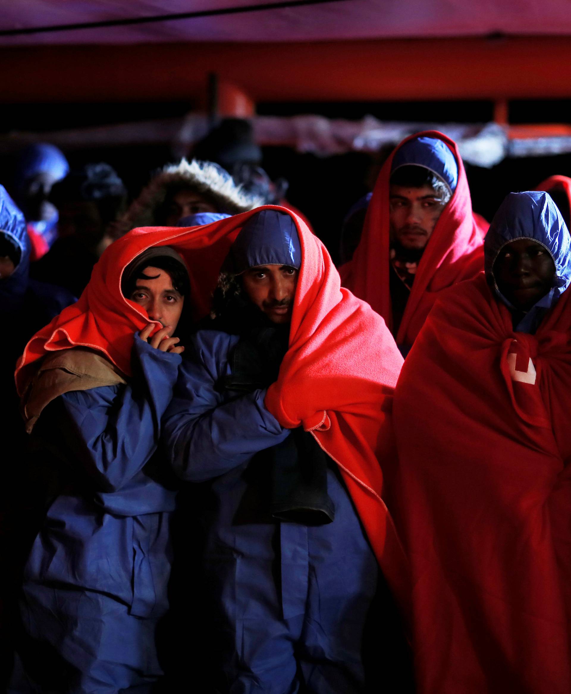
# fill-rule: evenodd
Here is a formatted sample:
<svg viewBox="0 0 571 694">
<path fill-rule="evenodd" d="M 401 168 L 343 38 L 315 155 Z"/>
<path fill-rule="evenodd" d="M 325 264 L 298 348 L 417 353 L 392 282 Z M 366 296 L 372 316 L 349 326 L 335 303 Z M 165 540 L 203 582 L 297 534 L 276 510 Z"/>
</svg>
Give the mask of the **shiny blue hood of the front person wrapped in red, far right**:
<svg viewBox="0 0 571 694">
<path fill-rule="evenodd" d="M 519 332 L 535 332 L 547 311 L 554 307 L 571 282 L 571 238 L 561 213 L 548 193 L 510 193 L 495 213 L 484 241 L 486 278 L 496 296 L 511 311 L 515 311 L 515 307 L 498 289 L 493 266 L 502 248 L 517 239 L 529 239 L 545 246 L 555 264 L 551 290 L 515 326 Z"/>
</svg>

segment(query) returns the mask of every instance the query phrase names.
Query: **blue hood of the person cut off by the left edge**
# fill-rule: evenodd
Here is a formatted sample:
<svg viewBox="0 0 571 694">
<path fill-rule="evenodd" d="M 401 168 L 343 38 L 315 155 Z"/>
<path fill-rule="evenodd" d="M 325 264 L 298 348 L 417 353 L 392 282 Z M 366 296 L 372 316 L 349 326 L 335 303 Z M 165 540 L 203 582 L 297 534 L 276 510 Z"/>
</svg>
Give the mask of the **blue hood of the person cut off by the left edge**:
<svg viewBox="0 0 571 694">
<path fill-rule="evenodd" d="M 30 239 L 24 214 L 0 185 L 0 233 L 20 251 L 20 260 L 15 271 L 5 279 L 0 279 L 0 304 L 2 312 L 7 312 L 22 301 L 28 289 L 30 269 Z"/>
</svg>

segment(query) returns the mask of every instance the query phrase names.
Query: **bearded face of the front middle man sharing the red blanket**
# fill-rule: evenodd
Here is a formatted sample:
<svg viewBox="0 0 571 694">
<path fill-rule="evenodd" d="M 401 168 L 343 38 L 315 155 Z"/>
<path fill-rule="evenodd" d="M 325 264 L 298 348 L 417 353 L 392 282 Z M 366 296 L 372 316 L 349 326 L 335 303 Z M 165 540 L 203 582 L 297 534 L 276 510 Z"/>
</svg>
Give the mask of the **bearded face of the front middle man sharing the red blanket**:
<svg viewBox="0 0 571 694">
<path fill-rule="evenodd" d="M 272 323 L 289 323 L 296 295 L 298 271 L 289 265 L 250 267 L 242 274 L 242 287 Z"/>
</svg>

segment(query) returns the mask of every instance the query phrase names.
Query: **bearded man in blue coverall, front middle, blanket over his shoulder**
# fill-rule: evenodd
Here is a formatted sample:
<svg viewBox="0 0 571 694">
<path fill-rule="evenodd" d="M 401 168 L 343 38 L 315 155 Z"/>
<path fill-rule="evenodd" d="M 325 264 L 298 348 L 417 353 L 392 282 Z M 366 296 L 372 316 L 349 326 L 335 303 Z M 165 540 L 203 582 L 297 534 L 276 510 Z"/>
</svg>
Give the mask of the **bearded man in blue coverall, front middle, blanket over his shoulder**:
<svg viewBox="0 0 571 694">
<path fill-rule="evenodd" d="M 402 358 L 299 217 L 267 207 L 217 224 L 237 237 L 163 434 L 197 490 L 187 620 L 203 667 L 222 694 L 361 693 L 393 675 L 407 691 L 384 584 L 406 595 L 407 577 L 381 500 Z"/>
</svg>

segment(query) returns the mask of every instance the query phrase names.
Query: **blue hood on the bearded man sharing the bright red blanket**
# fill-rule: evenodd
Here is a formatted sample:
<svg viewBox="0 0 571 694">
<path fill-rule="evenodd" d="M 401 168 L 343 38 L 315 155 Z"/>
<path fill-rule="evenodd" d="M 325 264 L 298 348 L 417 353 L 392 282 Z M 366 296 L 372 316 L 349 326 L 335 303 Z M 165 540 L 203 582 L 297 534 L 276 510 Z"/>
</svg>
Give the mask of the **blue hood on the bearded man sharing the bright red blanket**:
<svg viewBox="0 0 571 694">
<path fill-rule="evenodd" d="M 258 265 L 290 265 L 300 269 L 301 246 L 296 224 L 289 214 L 262 210 L 250 217 L 230 248 L 232 272 L 240 274 Z"/>
</svg>

